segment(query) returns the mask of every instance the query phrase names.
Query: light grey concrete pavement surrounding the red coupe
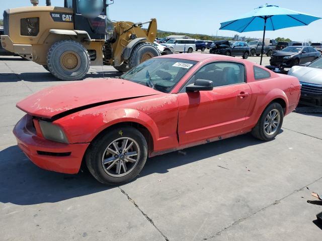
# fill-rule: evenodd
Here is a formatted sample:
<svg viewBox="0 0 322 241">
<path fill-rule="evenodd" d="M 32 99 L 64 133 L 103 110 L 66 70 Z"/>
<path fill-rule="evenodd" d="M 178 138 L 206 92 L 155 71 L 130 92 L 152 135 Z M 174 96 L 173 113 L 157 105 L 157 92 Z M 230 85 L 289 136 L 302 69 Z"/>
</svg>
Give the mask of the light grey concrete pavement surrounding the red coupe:
<svg viewBox="0 0 322 241">
<path fill-rule="evenodd" d="M 307 200 L 322 194 L 321 114 L 289 114 L 271 142 L 247 134 L 151 158 L 133 182 L 106 187 L 86 170 L 39 169 L 16 145 L 16 102 L 61 83 L 0 56 L 0 240 L 320 240 L 322 206 Z"/>
</svg>

